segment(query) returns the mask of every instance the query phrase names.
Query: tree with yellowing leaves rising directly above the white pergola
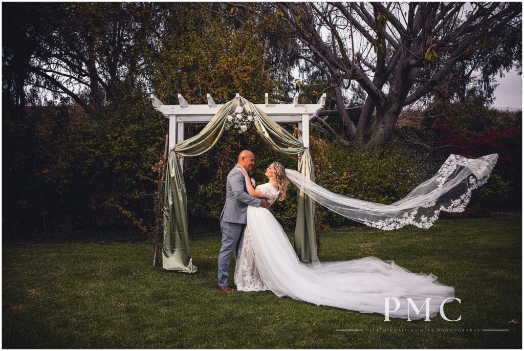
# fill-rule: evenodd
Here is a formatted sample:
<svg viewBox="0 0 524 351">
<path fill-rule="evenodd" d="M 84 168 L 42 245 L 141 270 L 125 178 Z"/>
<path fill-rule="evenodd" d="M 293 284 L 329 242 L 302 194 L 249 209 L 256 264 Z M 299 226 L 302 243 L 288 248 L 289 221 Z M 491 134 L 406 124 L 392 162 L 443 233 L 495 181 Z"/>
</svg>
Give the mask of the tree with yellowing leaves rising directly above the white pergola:
<svg viewBox="0 0 524 351">
<path fill-rule="evenodd" d="M 178 103 L 178 93 L 195 104 L 206 93 L 216 102 L 237 92 L 259 102 L 263 92 L 288 93 L 289 70 L 278 64 L 277 48 L 257 35 L 275 20 L 239 19 L 217 3 L 169 3 L 164 9 L 163 31 L 148 64 L 151 89 L 162 102 Z"/>
</svg>

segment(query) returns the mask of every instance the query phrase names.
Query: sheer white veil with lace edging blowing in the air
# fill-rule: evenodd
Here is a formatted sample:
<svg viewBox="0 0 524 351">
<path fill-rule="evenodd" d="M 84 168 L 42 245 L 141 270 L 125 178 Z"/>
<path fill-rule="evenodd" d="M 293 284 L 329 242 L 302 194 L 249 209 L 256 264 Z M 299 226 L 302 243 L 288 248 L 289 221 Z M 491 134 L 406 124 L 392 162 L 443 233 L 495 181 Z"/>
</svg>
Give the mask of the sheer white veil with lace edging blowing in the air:
<svg viewBox="0 0 524 351">
<path fill-rule="evenodd" d="M 354 221 L 384 230 L 408 224 L 427 229 L 441 211 L 463 212 L 470 202 L 472 190 L 488 180 L 497 159 L 497 153 L 477 159 L 450 155 L 432 178 L 390 205 L 332 193 L 291 169 L 286 169 L 286 174 L 297 188 L 316 202 Z"/>
</svg>

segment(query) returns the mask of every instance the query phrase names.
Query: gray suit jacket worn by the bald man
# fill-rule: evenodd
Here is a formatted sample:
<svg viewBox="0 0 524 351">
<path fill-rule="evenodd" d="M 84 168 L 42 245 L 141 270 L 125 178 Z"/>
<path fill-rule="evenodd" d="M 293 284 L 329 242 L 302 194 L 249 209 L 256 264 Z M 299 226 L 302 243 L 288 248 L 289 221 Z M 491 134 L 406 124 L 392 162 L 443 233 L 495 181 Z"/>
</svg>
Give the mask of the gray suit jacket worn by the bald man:
<svg viewBox="0 0 524 351">
<path fill-rule="evenodd" d="M 226 203 L 220 215 L 220 220 L 230 223 L 246 224 L 247 206 L 260 206 L 260 199 L 249 196 L 246 190 L 244 175 L 236 166 L 227 174 Z"/>
</svg>

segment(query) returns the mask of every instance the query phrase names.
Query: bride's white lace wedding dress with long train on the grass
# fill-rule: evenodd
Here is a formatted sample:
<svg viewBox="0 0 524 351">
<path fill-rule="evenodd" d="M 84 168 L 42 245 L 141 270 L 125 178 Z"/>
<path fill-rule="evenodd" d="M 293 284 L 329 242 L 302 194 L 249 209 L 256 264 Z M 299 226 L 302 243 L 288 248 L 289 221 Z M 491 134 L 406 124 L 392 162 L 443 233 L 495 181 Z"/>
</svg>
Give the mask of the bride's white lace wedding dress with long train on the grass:
<svg viewBox="0 0 524 351">
<path fill-rule="evenodd" d="M 258 185 L 269 203 L 278 196 L 271 184 Z M 239 291 L 270 290 L 278 297 L 316 305 L 328 305 L 362 313 L 386 314 L 390 298 L 390 317 L 425 319 L 435 316 L 441 303 L 453 302 L 455 290 L 437 281 L 436 276 L 413 273 L 392 260 L 364 257 L 350 261 L 303 264 L 282 227 L 263 207 L 248 206 L 247 225 L 238 250 L 235 284 Z M 419 313 L 409 304 L 411 298 Z"/>
</svg>

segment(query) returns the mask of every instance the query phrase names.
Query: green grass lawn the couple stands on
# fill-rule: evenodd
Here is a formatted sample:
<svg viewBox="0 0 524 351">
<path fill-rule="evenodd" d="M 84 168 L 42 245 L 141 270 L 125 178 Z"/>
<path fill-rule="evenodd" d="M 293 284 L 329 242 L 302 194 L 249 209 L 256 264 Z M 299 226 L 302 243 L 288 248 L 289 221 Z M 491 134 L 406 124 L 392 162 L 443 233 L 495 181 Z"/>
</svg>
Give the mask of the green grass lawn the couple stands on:
<svg viewBox="0 0 524 351">
<path fill-rule="evenodd" d="M 446 304 L 445 312 L 450 319 L 462 315 L 459 322 L 440 315 L 429 322 L 385 322 L 381 314 L 280 299 L 269 291 L 218 291 L 218 232 L 192 240 L 194 275 L 152 267 L 146 243 L 10 244 L 2 247 L 2 346 L 521 348 L 521 218 L 520 212 L 497 213 L 442 219 L 430 229 L 358 227 L 321 235 L 323 261 L 376 256 L 432 272 L 455 287 L 462 302 Z M 232 260 L 231 285 L 233 271 Z M 337 331 L 343 329 L 363 331 Z"/>
</svg>

